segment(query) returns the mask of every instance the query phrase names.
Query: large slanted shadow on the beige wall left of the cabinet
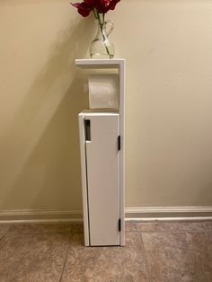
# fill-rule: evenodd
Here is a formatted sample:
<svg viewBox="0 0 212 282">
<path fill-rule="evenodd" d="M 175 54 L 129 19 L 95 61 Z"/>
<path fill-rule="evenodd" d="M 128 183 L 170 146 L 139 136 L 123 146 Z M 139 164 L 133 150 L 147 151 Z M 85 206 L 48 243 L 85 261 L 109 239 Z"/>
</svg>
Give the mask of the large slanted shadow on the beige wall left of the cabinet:
<svg viewBox="0 0 212 282">
<path fill-rule="evenodd" d="M 92 36 L 89 19 L 58 34 L 46 66 L 1 140 L 10 156 L 0 160 L 0 209 L 81 208 L 77 115 L 87 108 L 87 99 L 75 58 L 86 57 Z"/>
</svg>

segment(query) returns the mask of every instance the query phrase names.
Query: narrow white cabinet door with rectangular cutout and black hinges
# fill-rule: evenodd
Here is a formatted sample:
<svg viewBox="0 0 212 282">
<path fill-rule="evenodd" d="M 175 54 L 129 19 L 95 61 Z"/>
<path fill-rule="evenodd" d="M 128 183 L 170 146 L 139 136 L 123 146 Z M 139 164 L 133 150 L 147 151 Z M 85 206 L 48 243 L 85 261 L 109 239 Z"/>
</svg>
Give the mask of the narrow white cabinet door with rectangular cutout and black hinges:
<svg viewBox="0 0 212 282">
<path fill-rule="evenodd" d="M 90 244 L 119 245 L 119 115 L 85 119 L 90 120 L 85 142 Z"/>
</svg>

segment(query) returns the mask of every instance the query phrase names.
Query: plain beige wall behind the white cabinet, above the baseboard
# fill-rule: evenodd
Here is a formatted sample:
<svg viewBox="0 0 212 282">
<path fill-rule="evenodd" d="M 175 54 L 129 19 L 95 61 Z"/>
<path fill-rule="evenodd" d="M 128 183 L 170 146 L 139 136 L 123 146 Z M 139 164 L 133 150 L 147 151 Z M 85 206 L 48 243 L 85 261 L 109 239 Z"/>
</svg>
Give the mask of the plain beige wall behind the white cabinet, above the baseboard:
<svg viewBox="0 0 212 282">
<path fill-rule="evenodd" d="M 80 209 L 77 113 L 92 17 L 69 1 L 0 2 L 0 210 Z M 122 0 L 126 206 L 212 206 L 212 2 Z"/>
</svg>

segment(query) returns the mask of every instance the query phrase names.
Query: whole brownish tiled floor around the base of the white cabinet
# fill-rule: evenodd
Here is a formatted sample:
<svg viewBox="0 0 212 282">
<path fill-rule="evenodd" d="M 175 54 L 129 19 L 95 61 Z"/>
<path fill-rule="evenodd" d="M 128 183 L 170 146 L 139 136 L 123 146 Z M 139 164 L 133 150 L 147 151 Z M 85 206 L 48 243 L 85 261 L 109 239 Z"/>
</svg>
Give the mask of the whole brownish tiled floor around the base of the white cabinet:
<svg viewBox="0 0 212 282">
<path fill-rule="evenodd" d="M 126 225 L 126 247 L 84 247 L 82 225 L 0 225 L 0 282 L 211 282 L 212 221 Z"/>
</svg>

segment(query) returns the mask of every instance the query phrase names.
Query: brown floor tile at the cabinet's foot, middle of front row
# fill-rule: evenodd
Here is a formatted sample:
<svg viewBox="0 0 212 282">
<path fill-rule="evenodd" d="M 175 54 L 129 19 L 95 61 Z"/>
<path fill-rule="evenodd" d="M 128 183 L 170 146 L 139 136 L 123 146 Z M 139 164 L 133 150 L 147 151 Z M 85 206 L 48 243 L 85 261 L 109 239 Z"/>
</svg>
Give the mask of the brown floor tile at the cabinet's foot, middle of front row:
<svg viewBox="0 0 212 282">
<path fill-rule="evenodd" d="M 147 282 L 138 233 L 128 233 L 125 247 L 84 247 L 75 234 L 68 252 L 63 282 Z"/>
</svg>

